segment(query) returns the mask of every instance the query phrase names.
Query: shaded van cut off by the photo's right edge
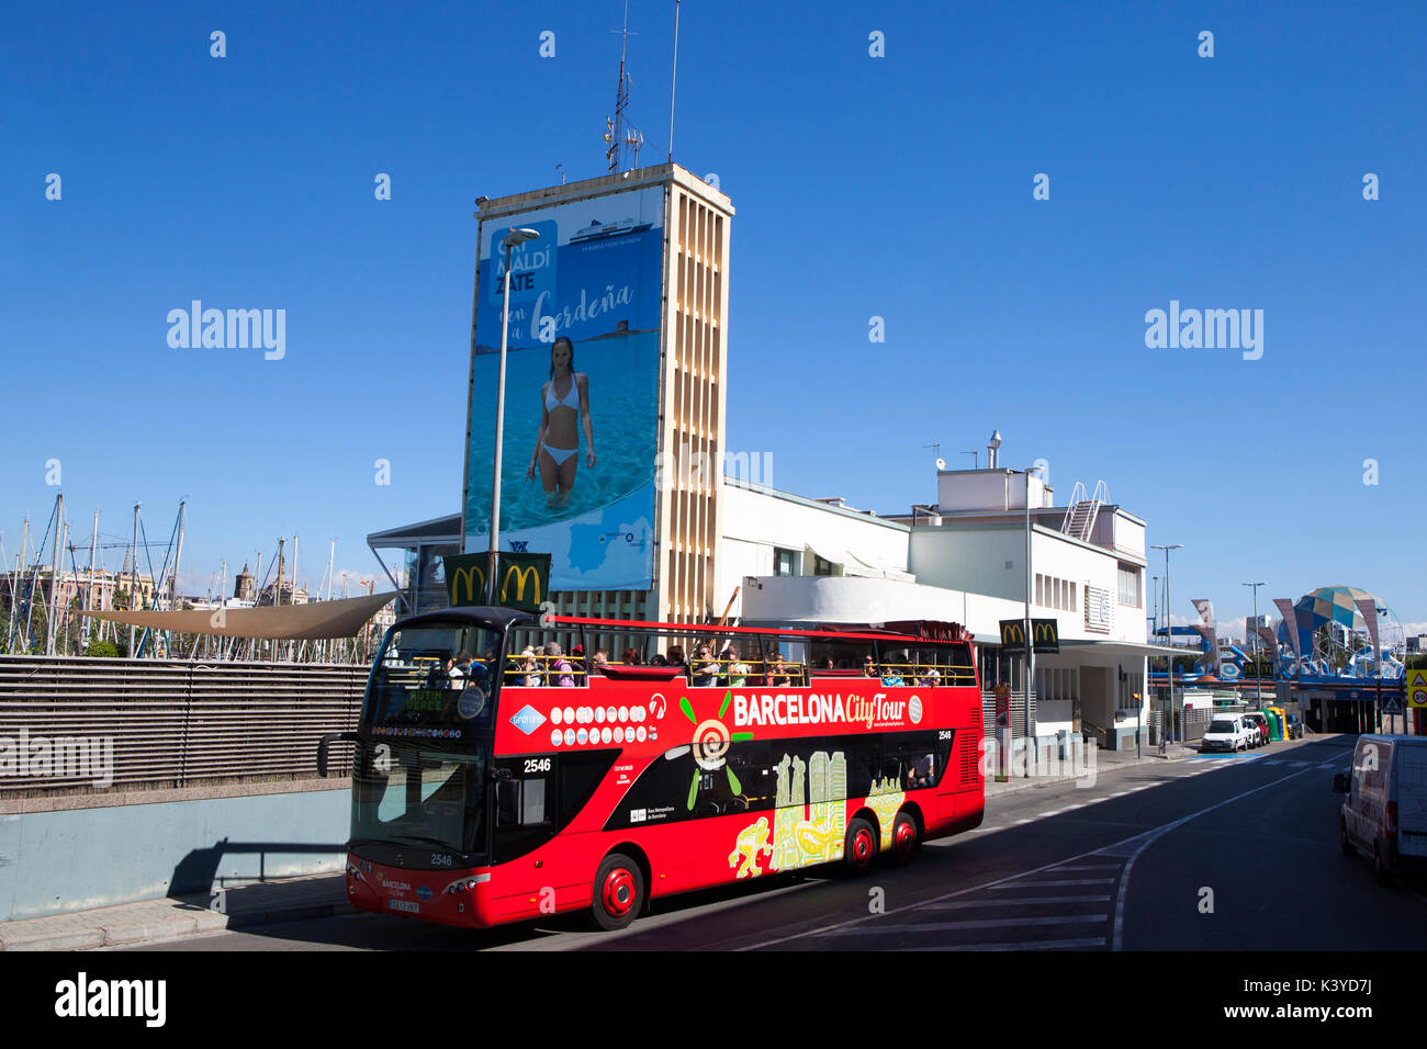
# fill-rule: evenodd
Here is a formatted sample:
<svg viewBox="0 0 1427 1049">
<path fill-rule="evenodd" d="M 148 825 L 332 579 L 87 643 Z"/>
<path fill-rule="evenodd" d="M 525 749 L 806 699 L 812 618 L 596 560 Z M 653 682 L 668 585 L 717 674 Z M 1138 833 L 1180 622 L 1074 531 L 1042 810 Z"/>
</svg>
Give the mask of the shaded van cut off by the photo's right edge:
<svg viewBox="0 0 1427 1049">
<path fill-rule="evenodd" d="M 1359 736 L 1353 768 L 1333 776 L 1333 789 L 1347 795 L 1344 856 L 1367 856 L 1380 885 L 1427 869 L 1427 736 Z"/>
</svg>

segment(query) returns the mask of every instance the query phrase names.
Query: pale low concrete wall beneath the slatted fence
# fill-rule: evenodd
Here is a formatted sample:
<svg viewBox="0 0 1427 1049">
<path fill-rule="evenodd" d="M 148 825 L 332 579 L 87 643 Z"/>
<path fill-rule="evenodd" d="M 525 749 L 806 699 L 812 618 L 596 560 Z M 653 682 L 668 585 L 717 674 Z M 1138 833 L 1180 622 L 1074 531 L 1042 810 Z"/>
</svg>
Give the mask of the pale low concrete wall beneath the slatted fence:
<svg viewBox="0 0 1427 1049">
<path fill-rule="evenodd" d="M 131 794 L 104 806 L 84 796 L 10 802 L 0 812 L 0 921 L 341 871 L 351 788 L 318 782 Z"/>
</svg>

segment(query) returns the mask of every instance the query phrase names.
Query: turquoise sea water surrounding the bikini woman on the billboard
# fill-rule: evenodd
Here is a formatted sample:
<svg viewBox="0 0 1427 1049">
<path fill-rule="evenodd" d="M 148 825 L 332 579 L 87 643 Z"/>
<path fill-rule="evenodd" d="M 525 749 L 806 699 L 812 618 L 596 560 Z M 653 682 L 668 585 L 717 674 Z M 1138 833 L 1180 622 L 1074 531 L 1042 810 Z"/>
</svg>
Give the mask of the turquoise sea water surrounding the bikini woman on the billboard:
<svg viewBox="0 0 1427 1049">
<path fill-rule="evenodd" d="M 611 321 L 611 327 L 612 327 Z M 585 465 L 584 428 L 575 455 L 575 484 L 569 502 L 549 507 L 539 467 L 527 480 L 541 422 L 541 388 L 549 381 L 549 347 L 537 345 L 507 354 L 505 442 L 501 464 L 501 531 L 555 524 L 616 502 L 654 478 L 656 374 L 659 333 L 575 341 L 575 371 L 589 381 L 589 418 L 596 461 Z M 492 440 L 495 437 L 495 382 L 498 358 L 481 354 L 475 364 L 471 415 L 469 505 L 467 529 L 481 535 L 489 528 Z M 651 507 L 652 510 L 652 507 Z M 504 544 L 502 544 L 504 545 Z"/>
</svg>

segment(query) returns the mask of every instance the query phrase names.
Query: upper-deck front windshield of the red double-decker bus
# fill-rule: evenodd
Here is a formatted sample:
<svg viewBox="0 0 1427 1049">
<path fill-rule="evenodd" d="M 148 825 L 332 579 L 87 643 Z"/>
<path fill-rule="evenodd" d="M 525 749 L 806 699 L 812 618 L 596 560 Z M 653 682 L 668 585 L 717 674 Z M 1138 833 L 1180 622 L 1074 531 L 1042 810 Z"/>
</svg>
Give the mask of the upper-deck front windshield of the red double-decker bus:
<svg viewBox="0 0 1427 1049">
<path fill-rule="evenodd" d="M 362 712 L 372 735 L 454 739 L 488 722 L 499 644 L 495 631 L 471 624 L 394 631 Z"/>
</svg>

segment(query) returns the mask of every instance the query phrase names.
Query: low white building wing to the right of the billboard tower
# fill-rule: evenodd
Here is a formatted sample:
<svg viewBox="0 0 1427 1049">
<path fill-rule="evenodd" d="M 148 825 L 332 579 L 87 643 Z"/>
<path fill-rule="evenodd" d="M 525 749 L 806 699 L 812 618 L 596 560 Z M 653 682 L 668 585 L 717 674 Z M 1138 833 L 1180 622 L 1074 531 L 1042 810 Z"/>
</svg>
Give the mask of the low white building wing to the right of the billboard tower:
<svg viewBox="0 0 1427 1049">
<path fill-rule="evenodd" d="M 719 591 L 739 588 L 745 624 L 960 622 L 976 639 L 983 689 L 1009 684 L 1020 726 L 1020 652 L 1003 652 L 1000 622 L 1025 617 L 1029 529 L 1030 617 L 1055 619 L 1060 638 L 1057 655 L 1036 657 L 1036 736 L 1133 745 L 1146 658 L 1157 651 L 1144 629 L 1144 521 L 1109 502 L 1103 485 L 1100 498 L 1056 507 L 1037 474 L 996 465 L 990 452 L 983 470 L 939 470 L 936 505 L 892 515 L 723 478 Z"/>
</svg>

